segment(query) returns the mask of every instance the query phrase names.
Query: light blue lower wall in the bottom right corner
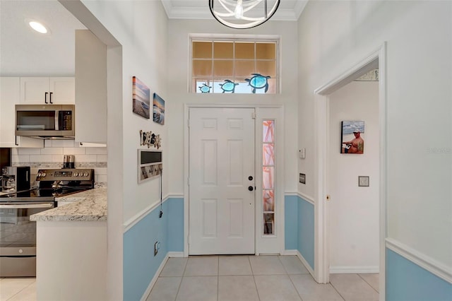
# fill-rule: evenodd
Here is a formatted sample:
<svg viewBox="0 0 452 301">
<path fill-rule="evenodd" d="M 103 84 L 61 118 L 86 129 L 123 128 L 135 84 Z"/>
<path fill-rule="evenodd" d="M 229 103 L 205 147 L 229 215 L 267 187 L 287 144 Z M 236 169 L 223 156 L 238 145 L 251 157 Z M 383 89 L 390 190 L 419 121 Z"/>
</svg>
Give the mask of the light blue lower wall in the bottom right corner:
<svg viewBox="0 0 452 301">
<path fill-rule="evenodd" d="M 451 301 L 452 284 L 386 249 L 386 301 Z"/>
</svg>

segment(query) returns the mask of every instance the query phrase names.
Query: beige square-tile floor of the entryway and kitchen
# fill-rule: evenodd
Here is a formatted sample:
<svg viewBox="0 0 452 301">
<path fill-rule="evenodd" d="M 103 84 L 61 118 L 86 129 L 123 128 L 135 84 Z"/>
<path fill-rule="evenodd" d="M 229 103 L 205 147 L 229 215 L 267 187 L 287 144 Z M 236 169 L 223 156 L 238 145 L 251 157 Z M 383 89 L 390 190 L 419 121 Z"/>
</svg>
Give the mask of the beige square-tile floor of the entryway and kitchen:
<svg viewBox="0 0 452 301">
<path fill-rule="evenodd" d="M 333 274 L 314 281 L 296 256 L 170 258 L 147 301 L 377 301 L 378 274 Z M 35 301 L 35 278 L 0 278 L 0 301 Z"/>
</svg>

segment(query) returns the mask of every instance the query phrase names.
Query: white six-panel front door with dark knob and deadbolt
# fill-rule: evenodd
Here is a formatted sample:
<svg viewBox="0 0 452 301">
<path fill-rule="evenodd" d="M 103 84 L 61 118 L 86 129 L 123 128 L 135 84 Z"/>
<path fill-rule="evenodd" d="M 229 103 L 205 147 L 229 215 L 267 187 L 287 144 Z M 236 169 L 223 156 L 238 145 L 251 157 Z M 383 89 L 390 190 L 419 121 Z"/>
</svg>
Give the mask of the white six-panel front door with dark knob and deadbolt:
<svg viewBox="0 0 452 301">
<path fill-rule="evenodd" d="M 255 253 L 253 115 L 249 108 L 189 109 L 191 255 Z"/>
</svg>

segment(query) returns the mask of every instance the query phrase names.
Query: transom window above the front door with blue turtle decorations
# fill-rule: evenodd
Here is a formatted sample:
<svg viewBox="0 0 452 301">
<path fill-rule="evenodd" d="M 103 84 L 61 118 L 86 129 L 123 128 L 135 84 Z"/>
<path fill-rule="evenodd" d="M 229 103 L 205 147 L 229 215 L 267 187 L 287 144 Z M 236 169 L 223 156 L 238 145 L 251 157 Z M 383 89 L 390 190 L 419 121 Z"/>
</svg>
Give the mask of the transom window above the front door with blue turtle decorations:
<svg viewBox="0 0 452 301">
<path fill-rule="evenodd" d="M 278 41 L 192 40 L 191 92 L 278 91 Z"/>
</svg>

